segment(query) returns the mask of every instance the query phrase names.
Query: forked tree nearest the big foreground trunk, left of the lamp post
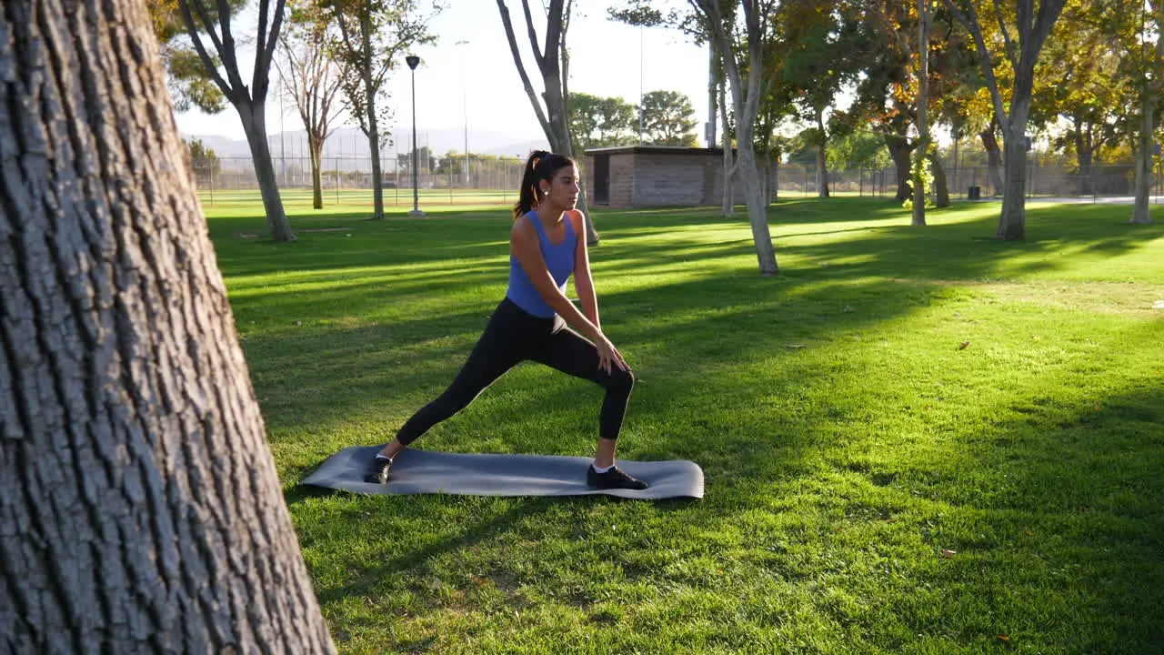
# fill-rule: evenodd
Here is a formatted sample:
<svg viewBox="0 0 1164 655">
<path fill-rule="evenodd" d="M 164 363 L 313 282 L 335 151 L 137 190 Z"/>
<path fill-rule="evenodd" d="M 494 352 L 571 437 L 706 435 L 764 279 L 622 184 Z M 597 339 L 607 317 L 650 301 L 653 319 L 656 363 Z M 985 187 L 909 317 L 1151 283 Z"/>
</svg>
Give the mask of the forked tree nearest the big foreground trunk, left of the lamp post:
<svg viewBox="0 0 1164 655">
<path fill-rule="evenodd" d="M 283 199 L 279 197 L 278 181 L 275 177 L 275 162 L 271 161 L 271 150 L 267 145 L 267 91 L 271 56 L 275 54 L 279 29 L 283 26 L 285 0 L 275 0 L 274 7 L 271 0 L 258 0 L 255 62 L 249 85 L 243 82 L 239 69 L 239 52 L 232 31 L 234 12 L 228 2 L 218 0 L 213 5 L 218 12 L 215 15 L 210 10 L 210 2 L 211 0 L 178 0 L 186 23 L 186 34 L 193 42 L 206 72 L 242 119 L 242 131 L 247 135 L 247 145 L 250 146 L 250 159 L 263 196 L 263 209 L 267 212 L 271 239 L 292 241 L 294 233 L 291 232 L 291 224 L 288 223 L 286 213 L 283 211 Z M 198 15 L 197 20 L 194 14 Z M 203 42 L 203 33 L 214 48 L 213 57 Z M 219 62 L 222 70 L 219 70 Z"/>
</svg>

